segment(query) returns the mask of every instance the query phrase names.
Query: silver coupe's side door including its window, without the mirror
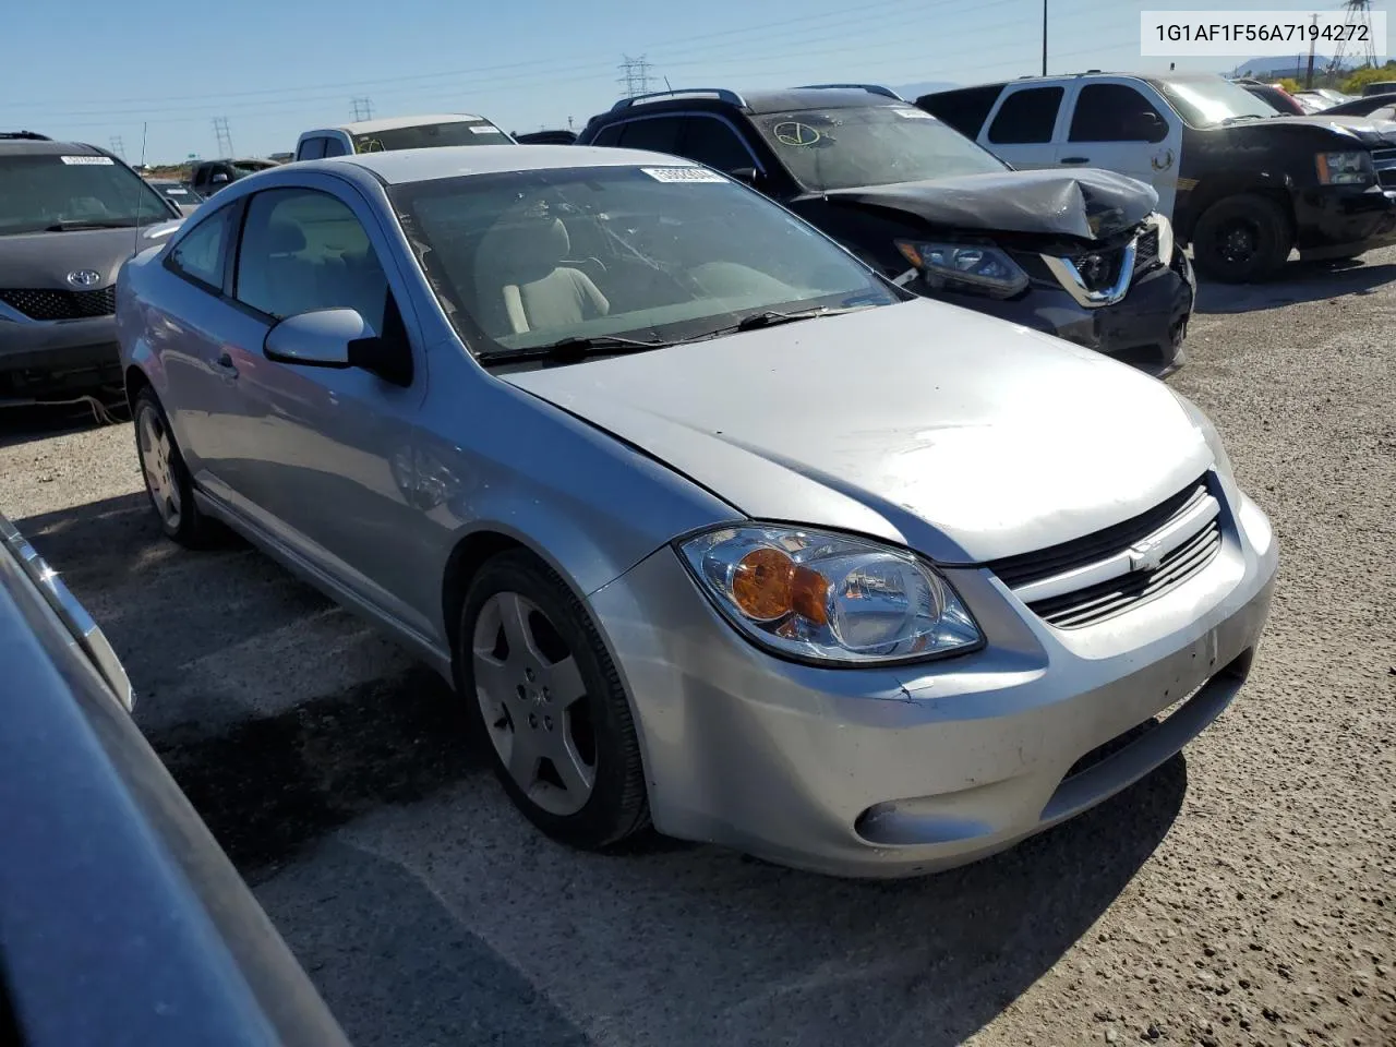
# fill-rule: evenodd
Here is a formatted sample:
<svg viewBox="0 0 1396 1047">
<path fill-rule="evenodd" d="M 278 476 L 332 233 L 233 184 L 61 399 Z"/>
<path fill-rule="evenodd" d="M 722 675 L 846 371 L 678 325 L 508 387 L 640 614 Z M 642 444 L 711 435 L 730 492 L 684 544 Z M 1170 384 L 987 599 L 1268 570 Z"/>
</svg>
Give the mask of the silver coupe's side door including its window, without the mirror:
<svg viewBox="0 0 1396 1047">
<path fill-rule="evenodd" d="M 303 181 L 247 201 L 232 289 L 242 322 L 228 346 L 235 377 L 218 423 L 229 497 L 278 544 L 429 635 L 402 551 L 422 525 L 410 463 L 426 367 L 410 299 L 392 242 L 357 190 L 324 174 Z M 355 309 L 374 332 L 403 335 L 406 384 L 267 357 L 281 320 L 325 309 Z"/>
</svg>

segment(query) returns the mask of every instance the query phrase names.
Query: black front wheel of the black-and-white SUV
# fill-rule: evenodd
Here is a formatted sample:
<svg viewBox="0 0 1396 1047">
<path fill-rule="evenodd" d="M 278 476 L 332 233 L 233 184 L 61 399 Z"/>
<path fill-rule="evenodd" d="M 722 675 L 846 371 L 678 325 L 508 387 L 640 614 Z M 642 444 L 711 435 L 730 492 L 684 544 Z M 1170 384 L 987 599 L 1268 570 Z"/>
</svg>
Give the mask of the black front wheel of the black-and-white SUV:
<svg viewBox="0 0 1396 1047">
<path fill-rule="evenodd" d="M 1273 276 L 1293 246 L 1294 229 L 1284 208 L 1254 193 L 1219 200 L 1202 212 L 1192 230 L 1194 265 L 1220 283 Z"/>
</svg>

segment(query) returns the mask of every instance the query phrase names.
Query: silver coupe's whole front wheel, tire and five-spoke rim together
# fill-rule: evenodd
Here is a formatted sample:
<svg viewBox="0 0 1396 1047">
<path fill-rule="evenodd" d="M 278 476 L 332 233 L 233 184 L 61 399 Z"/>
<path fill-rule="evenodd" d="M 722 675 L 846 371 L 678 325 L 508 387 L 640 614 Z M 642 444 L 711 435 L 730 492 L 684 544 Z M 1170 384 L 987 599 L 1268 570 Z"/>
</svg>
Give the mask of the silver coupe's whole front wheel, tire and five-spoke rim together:
<svg viewBox="0 0 1396 1047">
<path fill-rule="evenodd" d="M 524 550 L 465 596 L 456 688 L 514 805 L 556 840 L 602 850 L 649 826 L 639 741 L 620 676 L 582 602 Z"/>
</svg>

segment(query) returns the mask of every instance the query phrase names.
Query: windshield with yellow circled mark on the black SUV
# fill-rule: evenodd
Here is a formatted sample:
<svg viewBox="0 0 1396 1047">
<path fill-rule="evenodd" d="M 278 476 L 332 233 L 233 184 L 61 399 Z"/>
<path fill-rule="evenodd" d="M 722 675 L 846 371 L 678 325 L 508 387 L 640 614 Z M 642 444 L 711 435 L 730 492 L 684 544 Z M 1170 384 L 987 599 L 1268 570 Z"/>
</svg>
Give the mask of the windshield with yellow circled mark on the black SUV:
<svg viewBox="0 0 1396 1047">
<path fill-rule="evenodd" d="M 815 193 L 1005 170 L 997 156 L 912 106 L 769 113 L 757 117 L 757 127 Z"/>
</svg>

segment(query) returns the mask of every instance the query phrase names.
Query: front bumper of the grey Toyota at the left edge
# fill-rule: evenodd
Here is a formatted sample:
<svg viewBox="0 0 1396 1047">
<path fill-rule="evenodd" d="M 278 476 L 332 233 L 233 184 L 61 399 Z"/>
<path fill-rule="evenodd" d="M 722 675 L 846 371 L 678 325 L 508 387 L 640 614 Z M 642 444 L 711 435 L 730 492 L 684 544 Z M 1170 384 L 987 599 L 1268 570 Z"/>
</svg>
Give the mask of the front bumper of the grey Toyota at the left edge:
<svg viewBox="0 0 1396 1047">
<path fill-rule="evenodd" d="M 116 317 L 0 315 L 0 402 L 59 398 L 121 383 Z"/>
</svg>

